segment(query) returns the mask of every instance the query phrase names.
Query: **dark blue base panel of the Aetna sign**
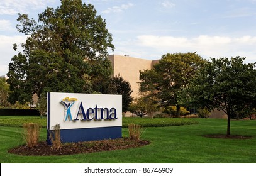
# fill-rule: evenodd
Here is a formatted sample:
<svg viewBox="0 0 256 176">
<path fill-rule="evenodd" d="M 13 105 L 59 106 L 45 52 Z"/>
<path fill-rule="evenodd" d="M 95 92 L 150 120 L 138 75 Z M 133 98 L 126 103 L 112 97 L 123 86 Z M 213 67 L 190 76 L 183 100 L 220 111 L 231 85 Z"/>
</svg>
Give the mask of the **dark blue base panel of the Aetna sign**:
<svg viewBox="0 0 256 176">
<path fill-rule="evenodd" d="M 51 144 L 51 141 L 49 138 L 50 131 L 47 131 L 48 144 Z M 62 143 L 116 139 L 121 137 L 122 137 L 121 126 L 60 130 L 60 138 L 62 140 Z"/>
</svg>

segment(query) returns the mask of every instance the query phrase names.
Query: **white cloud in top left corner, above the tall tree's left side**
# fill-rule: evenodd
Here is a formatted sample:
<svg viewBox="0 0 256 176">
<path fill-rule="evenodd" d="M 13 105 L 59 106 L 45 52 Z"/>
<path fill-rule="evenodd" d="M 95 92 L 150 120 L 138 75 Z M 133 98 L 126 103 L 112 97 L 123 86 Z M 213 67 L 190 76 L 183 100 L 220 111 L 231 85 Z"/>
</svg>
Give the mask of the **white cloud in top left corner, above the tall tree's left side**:
<svg viewBox="0 0 256 176">
<path fill-rule="evenodd" d="M 6 0 L 0 1 L 0 14 L 14 15 L 26 13 L 31 9 L 45 8 L 47 4 L 55 3 L 56 0 Z"/>
</svg>

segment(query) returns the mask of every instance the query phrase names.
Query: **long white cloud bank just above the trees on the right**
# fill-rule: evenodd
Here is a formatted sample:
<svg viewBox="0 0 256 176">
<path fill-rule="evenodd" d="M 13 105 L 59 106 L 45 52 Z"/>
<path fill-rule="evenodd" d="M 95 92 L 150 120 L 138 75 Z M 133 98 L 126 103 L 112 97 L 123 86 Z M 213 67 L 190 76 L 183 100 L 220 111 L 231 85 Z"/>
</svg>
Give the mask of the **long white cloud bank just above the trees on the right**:
<svg viewBox="0 0 256 176">
<path fill-rule="evenodd" d="M 231 38 L 227 36 L 200 35 L 196 38 L 174 36 L 138 36 L 138 43 L 142 47 L 150 47 L 152 54 L 176 52 L 198 52 L 202 57 L 209 59 L 220 57 L 247 57 L 246 62 L 256 62 L 256 37 L 242 36 Z M 154 50 L 152 50 L 152 48 Z M 150 54 L 150 53 L 148 53 Z"/>
</svg>

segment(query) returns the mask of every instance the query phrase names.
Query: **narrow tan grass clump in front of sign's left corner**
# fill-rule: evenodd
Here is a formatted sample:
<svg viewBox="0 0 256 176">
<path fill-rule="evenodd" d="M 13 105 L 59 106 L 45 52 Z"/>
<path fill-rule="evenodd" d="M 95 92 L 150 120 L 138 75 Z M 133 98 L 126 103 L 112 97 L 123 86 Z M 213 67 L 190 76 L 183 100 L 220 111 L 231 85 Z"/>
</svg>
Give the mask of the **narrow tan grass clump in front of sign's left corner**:
<svg viewBox="0 0 256 176">
<path fill-rule="evenodd" d="M 60 138 L 60 124 L 55 124 L 55 126 L 53 126 L 53 130 L 50 131 L 49 138 L 50 138 L 50 142 L 52 143 L 52 149 L 53 150 L 60 149 L 60 146 L 62 145 L 61 138 Z"/>
</svg>

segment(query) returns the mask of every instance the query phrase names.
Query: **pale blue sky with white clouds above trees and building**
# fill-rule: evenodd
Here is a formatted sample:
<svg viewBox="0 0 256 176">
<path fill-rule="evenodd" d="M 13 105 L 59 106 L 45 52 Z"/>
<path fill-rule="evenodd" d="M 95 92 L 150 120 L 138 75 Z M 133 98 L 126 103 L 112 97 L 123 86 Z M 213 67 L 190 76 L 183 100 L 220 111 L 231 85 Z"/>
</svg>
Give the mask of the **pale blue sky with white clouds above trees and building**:
<svg viewBox="0 0 256 176">
<path fill-rule="evenodd" d="M 204 59 L 246 57 L 256 62 L 256 0 L 83 0 L 93 4 L 113 36 L 109 55 L 156 60 L 166 53 L 197 52 Z M 60 0 L 0 0 L 0 75 L 8 72 L 25 43 L 18 33 L 18 13 L 38 19 Z"/>
</svg>

